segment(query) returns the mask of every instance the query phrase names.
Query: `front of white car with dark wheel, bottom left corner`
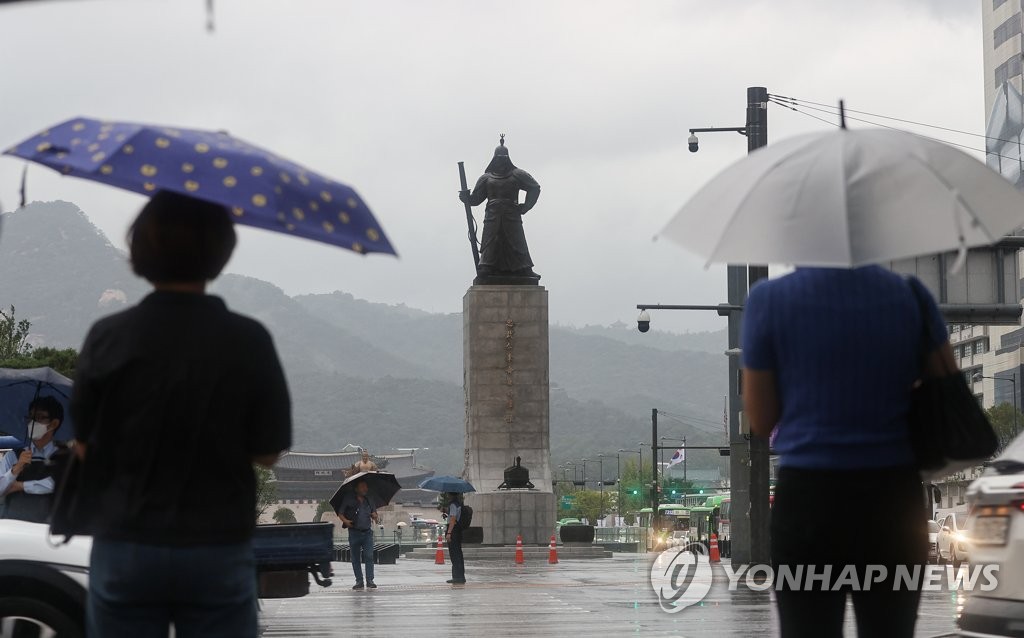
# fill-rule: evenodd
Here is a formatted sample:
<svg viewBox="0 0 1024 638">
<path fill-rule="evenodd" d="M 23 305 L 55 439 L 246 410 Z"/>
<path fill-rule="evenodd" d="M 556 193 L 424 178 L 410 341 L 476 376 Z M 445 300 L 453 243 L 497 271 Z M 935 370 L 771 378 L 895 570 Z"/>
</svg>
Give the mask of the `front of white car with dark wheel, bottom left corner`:
<svg viewBox="0 0 1024 638">
<path fill-rule="evenodd" d="M 92 539 L 54 543 L 47 525 L 0 519 L 0 636 L 85 635 Z"/>
</svg>

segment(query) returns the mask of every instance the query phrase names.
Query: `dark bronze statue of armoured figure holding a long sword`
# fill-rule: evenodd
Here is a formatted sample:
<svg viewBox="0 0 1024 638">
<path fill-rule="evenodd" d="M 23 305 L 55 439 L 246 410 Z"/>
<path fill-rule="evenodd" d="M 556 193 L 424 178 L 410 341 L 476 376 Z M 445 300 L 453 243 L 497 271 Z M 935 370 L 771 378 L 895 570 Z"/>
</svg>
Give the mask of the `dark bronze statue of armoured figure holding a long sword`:
<svg viewBox="0 0 1024 638">
<path fill-rule="evenodd" d="M 476 180 L 472 193 L 466 188 L 461 162 L 459 169 L 463 176 L 463 190 L 459 193 L 459 199 L 466 205 L 474 253 L 476 232 L 469 209 L 487 201 L 474 283 L 537 284 L 541 275 L 534 271 L 534 260 L 529 257 L 526 235 L 522 229 L 522 216 L 537 204 L 541 197 L 541 184 L 529 173 L 512 164 L 504 134 L 486 172 Z M 526 192 L 522 204 L 519 204 L 520 190 Z"/>
</svg>

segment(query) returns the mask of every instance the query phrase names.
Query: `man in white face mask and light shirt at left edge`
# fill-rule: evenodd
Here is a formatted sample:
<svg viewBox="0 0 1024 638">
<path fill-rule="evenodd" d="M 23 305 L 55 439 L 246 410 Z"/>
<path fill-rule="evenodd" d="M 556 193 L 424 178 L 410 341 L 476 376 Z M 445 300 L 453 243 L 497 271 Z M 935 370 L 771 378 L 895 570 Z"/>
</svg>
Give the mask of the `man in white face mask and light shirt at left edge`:
<svg viewBox="0 0 1024 638">
<path fill-rule="evenodd" d="M 0 495 L 5 497 L 4 518 L 46 522 L 53 504 L 53 488 L 66 459 L 67 448 L 53 440 L 63 421 L 63 406 L 52 396 L 29 405 L 29 445 L 11 450 L 0 459 Z"/>
</svg>

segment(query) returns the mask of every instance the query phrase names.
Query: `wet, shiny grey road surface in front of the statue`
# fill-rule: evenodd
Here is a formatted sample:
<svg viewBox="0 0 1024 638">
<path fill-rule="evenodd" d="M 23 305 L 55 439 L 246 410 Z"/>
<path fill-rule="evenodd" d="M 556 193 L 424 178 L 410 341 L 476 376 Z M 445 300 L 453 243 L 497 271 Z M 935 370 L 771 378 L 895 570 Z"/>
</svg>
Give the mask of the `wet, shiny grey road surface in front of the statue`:
<svg viewBox="0 0 1024 638">
<path fill-rule="evenodd" d="M 728 591 L 718 568 L 699 605 L 662 610 L 651 589 L 653 556 L 604 560 L 470 564 L 465 586 L 451 567 L 423 560 L 377 565 L 379 589 L 355 592 L 351 566 L 335 563 L 335 585 L 303 598 L 263 601 L 261 636 L 771 636 L 770 592 Z M 954 629 L 957 595 L 925 592 L 918 636 Z M 855 636 L 853 609 L 846 635 Z"/>
</svg>

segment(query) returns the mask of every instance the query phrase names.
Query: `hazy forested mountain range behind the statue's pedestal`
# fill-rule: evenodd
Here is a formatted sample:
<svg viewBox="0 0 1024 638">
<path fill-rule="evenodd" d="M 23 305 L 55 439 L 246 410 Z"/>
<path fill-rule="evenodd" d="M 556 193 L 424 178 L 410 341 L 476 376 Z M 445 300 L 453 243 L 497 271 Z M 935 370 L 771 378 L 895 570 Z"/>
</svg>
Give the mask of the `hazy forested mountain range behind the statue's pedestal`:
<svg viewBox="0 0 1024 638">
<path fill-rule="evenodd" d="M 78 347 L 92 322 L 147 290 L 75 205 L 33 203 L 0 215 L 0 307 L 13 305 L 32 322 L 34 343 Z M 461 314 L 344 292 L 292 297 L 238 274 L 221 277 L 211 292 L 273 335 L 293 396 L 296 450 L 336 451 L 349 442 L 385 453 L 429 449 L 417 453 L 418 462 L 461 472 Z M 556 465 L 649 442 L 655 407 L 677 415 L 663 422 L 663 435 L 724 442 L 724 331 L 641 335 L 623 324 L 553 325 L 550 334 Z M 694 452 L 689 460 L 691 467 L 720 463 L 717 454 Z"/>
</svg>

